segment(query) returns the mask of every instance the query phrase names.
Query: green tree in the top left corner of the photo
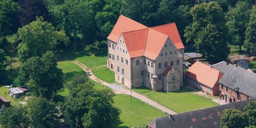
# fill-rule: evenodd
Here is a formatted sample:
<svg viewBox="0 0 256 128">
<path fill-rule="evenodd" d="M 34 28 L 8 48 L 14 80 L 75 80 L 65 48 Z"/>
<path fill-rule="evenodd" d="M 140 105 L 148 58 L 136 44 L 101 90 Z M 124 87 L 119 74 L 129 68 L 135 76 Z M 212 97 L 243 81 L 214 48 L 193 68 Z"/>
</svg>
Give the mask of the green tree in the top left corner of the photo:
<svg viewBox="0 0 256 128">
<path fill-rule="evenodd" d="M 18 3 L 13 0 L 0 0 L 0 33 L 4 37 L 17 29 L 18 9 Z"/>
</svg>

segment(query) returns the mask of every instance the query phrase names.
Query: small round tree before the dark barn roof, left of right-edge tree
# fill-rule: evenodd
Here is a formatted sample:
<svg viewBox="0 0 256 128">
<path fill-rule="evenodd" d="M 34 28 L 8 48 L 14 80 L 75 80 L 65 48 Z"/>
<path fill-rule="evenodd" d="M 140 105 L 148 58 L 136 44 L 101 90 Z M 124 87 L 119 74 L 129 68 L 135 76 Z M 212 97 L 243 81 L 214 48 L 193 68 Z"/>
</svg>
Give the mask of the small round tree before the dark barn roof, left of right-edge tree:
<svg viewBox="0 0 256 128">
<path fill-rule="evenodd" d="M 226 109 L 222 111 L 221 127 L 244 128 L 248 126 L 248 116 L 240 110 Z"/>
</svg>

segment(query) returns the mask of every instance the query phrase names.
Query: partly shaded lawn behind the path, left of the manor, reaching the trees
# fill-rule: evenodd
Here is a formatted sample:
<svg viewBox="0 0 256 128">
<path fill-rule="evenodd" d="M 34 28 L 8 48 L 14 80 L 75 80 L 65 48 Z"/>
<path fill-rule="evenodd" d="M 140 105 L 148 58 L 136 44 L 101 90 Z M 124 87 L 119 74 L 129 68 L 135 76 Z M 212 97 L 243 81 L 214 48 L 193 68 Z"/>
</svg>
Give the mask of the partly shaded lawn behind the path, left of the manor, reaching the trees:
<svg viewBox="0 0 256 128">
<path fill-rule="evenodd" d="M 108 50 L 106 48 L 104 49 L 92 48 L 90 50 L 65 52 L 63 54 L 83 63 L 88 68 L 106 65 L 106 62 L 108 60 L 108 57 L 107 57 Z"/>
</svg>

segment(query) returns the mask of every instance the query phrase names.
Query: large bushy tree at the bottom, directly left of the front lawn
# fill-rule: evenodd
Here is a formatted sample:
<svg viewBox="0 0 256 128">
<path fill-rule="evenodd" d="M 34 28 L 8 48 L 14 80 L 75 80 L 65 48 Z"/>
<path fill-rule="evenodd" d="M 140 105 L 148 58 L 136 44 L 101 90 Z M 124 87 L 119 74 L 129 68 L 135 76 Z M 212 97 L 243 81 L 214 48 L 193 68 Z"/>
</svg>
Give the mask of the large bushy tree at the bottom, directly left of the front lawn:
<svg viewBox="0 0 256 128">
<path fill-rule="evenodd" d="M 78 79 L 77 79 L 78 80 Z M 76 80 L 75 80 L 76 81 Z M 112 91 L 97 91 L 92 83 L 76 81 L 65 101 L 64 115 L 70 127 L 113 126 L 119 120 L 120 111 L 113 106 Z"/>
</svg>

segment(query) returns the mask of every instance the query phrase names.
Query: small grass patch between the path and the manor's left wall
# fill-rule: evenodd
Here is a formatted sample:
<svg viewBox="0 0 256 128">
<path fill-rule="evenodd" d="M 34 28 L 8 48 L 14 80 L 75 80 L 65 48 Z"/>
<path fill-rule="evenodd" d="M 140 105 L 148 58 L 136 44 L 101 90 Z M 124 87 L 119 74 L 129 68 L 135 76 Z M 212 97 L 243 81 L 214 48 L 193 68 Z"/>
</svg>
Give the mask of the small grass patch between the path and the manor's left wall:
<svg viewBox="0 0 256 128">
<path fill-rule="evenodd" d="M 108 83 L 115 82 L 115 73 L 109 70 L 106 66 L 93 69 L 92 73 L 99 79 L 106 81 Z"/>
</svg>

